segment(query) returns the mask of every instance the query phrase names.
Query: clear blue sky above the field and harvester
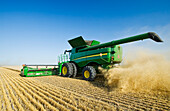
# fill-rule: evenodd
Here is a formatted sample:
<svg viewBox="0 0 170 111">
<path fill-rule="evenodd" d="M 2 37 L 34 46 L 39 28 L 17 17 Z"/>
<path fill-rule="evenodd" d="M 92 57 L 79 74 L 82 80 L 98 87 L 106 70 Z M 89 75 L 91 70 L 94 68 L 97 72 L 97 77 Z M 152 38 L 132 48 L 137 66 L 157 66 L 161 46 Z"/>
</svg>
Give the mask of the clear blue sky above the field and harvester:
<svg viewBox="0 0 170 111">
<path fill-rule="evenodd" d="M 0 0 L 0 65 L 56 64 L 71 38 L 104 43 L 148 31 L 165 42 L 128 45 L 169 52 L 170 0 Z"/>
</svg>

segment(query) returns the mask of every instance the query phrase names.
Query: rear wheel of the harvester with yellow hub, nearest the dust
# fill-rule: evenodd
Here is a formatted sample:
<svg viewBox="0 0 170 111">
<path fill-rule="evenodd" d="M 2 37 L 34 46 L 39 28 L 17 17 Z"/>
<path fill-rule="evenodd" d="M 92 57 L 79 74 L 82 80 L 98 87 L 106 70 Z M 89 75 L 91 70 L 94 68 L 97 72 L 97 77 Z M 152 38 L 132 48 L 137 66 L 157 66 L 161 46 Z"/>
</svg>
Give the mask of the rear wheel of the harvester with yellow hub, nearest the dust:
<svg viewBox="0 0 170 111">
<path fill-rule="evenodd" d="M 93 81 L 96 77 L 96 70 L 92 66 L 86 66 L 82 71 L 83 79 L 87 81 Z"/>
</svg>

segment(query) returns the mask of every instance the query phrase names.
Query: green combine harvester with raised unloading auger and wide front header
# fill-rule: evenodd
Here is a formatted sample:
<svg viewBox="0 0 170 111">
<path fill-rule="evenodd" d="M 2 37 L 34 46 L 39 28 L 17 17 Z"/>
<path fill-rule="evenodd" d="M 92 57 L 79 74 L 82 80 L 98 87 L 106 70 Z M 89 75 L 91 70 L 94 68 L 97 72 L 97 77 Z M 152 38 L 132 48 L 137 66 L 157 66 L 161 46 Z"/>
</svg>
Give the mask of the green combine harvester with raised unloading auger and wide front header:
<svg viewBox="0 0 170 111">
<path fill-rule="evenodd" d="M 76 77 L 82 74 L 84 80 L 94 80 L 98 74 L 98 67 L 109 69 L 122 61 L 122 47 L 119 44 L 128 42 L 152 39 L 156 42 L 163 42 L 154 32 L 148 32 L 120 40 L 100 44 L 99 41 L 86 41 L 81 36 L 69 40 L 71 50 L 65 50 L 59 56 L 58 65 L 23 65 L 21 74 L 26 77 L 61 75 L 63 77 Z M 36 66 L 31 68 L 30 66 Z M 46 68 L 38 68 L 46 66 Z M 54 68 L 48 68 L 54 66 Z"/>
</svg>

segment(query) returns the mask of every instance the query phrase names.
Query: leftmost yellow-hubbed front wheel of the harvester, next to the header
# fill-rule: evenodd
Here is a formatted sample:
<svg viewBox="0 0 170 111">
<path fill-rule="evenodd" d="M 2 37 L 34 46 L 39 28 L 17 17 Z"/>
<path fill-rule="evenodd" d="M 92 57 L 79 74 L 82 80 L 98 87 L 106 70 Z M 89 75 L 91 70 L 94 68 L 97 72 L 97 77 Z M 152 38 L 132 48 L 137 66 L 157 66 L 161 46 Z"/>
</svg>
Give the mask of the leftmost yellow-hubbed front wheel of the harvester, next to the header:
<svg viewBox="0 0 170 111">
<path fill-rule="evenodd" d="M 64 63 L 61 69 L 61 76 L 71 77 L 73 75 L 73 66 L 71 63 Z"/>
</svg>

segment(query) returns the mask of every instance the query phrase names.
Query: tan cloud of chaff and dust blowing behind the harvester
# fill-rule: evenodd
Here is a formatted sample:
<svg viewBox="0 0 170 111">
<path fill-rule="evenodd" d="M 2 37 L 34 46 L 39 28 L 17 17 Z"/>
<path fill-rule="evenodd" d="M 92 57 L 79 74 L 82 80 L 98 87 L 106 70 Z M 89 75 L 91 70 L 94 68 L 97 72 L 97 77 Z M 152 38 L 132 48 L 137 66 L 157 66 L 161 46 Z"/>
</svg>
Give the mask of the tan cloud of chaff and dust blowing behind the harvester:
<svg viewBox="0 0 170 111">
<path fill-rule="evenodd" d="M 161 54 L 131 52 L 122 65 L 102 72 L 106 85 L 114 90 L 170 94 L 170 61 Z"/>
</svg>

